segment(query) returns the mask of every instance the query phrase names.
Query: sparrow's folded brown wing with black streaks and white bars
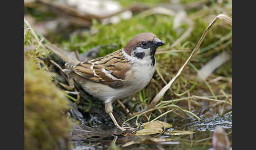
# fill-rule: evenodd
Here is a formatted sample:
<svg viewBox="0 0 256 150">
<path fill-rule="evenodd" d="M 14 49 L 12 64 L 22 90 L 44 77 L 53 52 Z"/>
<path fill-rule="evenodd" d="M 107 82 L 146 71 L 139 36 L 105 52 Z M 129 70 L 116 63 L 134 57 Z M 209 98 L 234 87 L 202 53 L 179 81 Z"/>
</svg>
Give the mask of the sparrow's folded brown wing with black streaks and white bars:
<svg viewBox="0 0 256 150">
<path fill-rule="evenodd" d="M 73 67 L 73 71 L 93 82 L 107 84 L 112 88 L 121 88 L 125 85 L 124 79 L 130 67 L 131 64 L 122 55 L 122 50 L 117 50 L 105 57 L 78 63 Z M 112 78 L 106 76 L 105 72 L 102 72 L 103 68 L 106 71 L 112 71 Z"/>
</svg>

